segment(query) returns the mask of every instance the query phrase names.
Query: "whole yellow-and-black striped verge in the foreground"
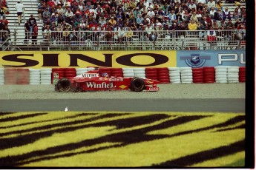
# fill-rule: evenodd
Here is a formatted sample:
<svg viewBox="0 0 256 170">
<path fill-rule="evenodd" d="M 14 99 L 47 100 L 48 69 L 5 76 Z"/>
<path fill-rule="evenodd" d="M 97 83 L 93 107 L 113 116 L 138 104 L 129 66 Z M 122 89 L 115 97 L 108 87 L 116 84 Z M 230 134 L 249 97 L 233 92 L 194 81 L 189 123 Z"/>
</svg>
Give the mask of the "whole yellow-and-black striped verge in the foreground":
<svg viewBox="0 0 256 170">
<path fill-rule="evenodd" d="M 2 166 L 244 166 L 244 113 L 0 115 Z"/>
</svg>

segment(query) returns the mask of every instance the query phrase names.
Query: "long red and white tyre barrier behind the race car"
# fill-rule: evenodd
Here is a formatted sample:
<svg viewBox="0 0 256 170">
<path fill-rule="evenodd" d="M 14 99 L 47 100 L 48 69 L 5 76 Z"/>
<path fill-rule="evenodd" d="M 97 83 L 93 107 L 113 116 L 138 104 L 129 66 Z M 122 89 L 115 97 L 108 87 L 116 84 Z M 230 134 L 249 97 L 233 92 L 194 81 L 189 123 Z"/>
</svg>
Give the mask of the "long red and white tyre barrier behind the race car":
<svg viewBox="0 0 256 170">
<path fill-rule="evenodd" d="M 0 68 L 0 85 L 4 84 L 53 84 L 53 72 L 61 78 L 73 78 L 95 68 Z M 160 81 L 161 84 L 244 83 L 246 67 L 163 67 L 163 68 L 99 68 L 110 76 L 140 77 Z"/>
</svg>

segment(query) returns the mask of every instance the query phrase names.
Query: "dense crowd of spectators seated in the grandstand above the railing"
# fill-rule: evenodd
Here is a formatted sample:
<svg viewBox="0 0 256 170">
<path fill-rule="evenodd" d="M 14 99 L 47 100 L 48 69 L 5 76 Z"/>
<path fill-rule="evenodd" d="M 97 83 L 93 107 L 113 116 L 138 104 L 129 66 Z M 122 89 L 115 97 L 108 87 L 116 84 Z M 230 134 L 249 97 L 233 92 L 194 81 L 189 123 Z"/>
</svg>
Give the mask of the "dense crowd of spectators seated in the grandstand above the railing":
<svg viewBox="0 0 256 170">
<path fill-rule="evenodd" d="M 41 0 L 38 13 L 47 41 L 76 38 L 73 31 L 82 30 L 91 31 L 91 40 L 104 30 L 104 38 L 122 41 L 137 30 L 245 30 L 246 9 L 235 3 L 231 13 L 220 0 Z M 28 23 L 31 37 L 36 19 Z"/>
</svg>

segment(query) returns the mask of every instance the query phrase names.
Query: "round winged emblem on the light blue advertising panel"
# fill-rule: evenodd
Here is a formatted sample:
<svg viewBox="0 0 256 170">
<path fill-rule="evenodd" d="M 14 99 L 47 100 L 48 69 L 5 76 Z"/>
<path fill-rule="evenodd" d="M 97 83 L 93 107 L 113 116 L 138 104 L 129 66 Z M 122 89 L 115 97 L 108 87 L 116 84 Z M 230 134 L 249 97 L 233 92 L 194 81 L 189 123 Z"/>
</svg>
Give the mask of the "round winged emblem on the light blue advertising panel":
<svg viewBox="0 0 256 170">
<path fill-rule="evenodd" d="M 203 64 L 205 64 L 206 60 L 209 59 L 211 59 L 211 56 L 200 56 L 199 54 L 193 54 L 187 57 L 180 57 L 180 60 L 185 60 L 186 64 L 192 68 L 203 67 Z"/>
</svg>

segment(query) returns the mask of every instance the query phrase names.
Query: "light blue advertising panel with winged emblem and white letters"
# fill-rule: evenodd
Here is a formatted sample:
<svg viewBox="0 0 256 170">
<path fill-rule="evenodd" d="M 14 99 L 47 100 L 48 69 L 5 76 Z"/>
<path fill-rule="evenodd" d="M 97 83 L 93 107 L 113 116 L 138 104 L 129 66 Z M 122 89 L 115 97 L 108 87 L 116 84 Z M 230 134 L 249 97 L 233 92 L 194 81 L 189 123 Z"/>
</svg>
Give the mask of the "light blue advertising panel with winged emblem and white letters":
<svg viewBox="0 0 256 170">
<path fill-rule="evenodd" d="M 178 50 L 177 67 L 245 66 L 246 50 Z"/>
</svg>

